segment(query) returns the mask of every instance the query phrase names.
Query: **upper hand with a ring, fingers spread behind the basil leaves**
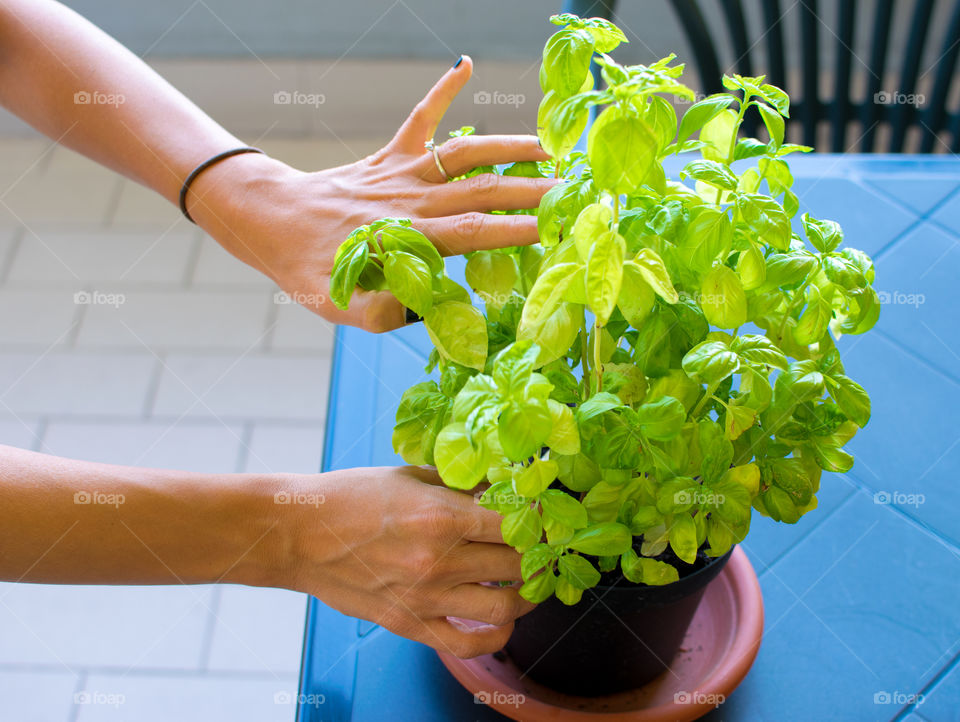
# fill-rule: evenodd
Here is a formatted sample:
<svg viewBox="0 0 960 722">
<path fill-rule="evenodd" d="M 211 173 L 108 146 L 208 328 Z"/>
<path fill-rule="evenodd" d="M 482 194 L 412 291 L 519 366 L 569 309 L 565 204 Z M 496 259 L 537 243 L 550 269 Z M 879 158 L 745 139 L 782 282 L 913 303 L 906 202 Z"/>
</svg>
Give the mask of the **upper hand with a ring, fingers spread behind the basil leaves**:
<svg viewBox="0 0 960 722">
<path fill-rule="evenodd" d="M 341 311 L 329 298 L 340 243 L 379 218 L 410 218 L 443 255 L 532 244 L 536 218 L 486 211 L 536 208 L 555 183 L 484 173 L 446 182 L 425 147 L 469 80 L 464 57 L 414 108 L 381 150 L 316 173 L 256 154 L 234 156 L 191 187 L 191 215 L 235 256 L 270 276 L 297 303 L 341 324 L 382 332 L 403 325 L 404 309 L 388 292 L 359 291 Z M 483 165 L 540 161 L 536 136 L 466 136 L 439 148 L 449 178 Z"/>
</svg>

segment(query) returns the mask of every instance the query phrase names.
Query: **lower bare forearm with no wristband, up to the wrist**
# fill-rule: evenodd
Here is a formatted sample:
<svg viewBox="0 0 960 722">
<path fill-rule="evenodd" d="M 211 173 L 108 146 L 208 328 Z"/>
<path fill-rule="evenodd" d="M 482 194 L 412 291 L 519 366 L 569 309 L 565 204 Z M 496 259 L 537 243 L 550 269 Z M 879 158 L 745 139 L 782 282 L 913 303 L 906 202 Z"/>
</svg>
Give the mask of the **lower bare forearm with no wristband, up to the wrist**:
<svg viewBox="0 0 960 722">
<path fill-rule="evenodd" d="M 0 579 L 283 586 L 294 476 L 194 474 L 0 446 Z"/>
</svg>

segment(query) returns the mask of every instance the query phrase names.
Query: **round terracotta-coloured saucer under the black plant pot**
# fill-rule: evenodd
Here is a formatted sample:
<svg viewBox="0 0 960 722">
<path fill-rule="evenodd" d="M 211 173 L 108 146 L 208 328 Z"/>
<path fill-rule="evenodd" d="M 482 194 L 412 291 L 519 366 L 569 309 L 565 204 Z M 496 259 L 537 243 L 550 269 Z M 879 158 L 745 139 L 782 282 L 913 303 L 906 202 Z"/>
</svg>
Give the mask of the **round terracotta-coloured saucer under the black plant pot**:
<svg viewBox="0 0 960 722">
<path fill-rule="evenodd" d="M 574 697 L 523 677 L 509 657 L 458 659 L 443 664 L 479 701 L 521 722 L 596 720 L 686 722 L 722 703 L 753 664 L 763 635 L 763 597 L 757 575 L 737 547 L 706 589 L 670 669 L 652 682 L 606 697 Z"/>
</svg>

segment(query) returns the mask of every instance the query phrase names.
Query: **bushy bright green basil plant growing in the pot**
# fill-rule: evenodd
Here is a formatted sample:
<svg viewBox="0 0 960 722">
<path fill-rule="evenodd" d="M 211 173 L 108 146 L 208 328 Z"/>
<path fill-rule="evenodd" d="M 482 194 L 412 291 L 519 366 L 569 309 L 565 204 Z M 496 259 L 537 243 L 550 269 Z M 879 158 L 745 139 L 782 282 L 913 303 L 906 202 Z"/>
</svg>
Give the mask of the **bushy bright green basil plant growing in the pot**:
<svg viewBox="0 0 960 722">
<path fill-rule="evenodd" d="M 332 297 L 389 289 L 423 317 L 439 376 L 403 395 L 395 450 L 455 489 L 488 484 L 521 594 L 574 604 L 618 566 L 677 580 L 753 511 L 792 524 L 816 508 L 870 418 L 835 339 L 880 307 L 837 223 L 792 230 L 786 157 L 810 149 L 784 142 L 784 91 L 734 75 L 692 103 L 673 56 L 623 66 L 612 23 L 552 20 L 537 125 L 553 160 L 478 170 L 563 179 L 536 210 L 540 243 L 472 253 L 471 295 L 409 221 L 384 219 L 342 245 Z M 679 124 L 669 96 L 688 103 Z M 741 137 L 748 113 L 767 142 Z M 692 158 L 678 180 L 674 154 Z"/>
</svg>

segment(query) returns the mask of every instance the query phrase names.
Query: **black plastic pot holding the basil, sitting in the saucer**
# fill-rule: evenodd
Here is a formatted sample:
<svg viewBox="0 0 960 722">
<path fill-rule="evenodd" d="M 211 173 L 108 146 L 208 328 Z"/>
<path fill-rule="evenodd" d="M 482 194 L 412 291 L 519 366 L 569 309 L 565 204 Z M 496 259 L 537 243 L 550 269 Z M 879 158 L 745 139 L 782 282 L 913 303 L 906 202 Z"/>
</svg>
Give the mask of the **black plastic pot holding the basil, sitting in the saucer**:
<svg viewBox="0 0 960 722">
<path fill-rule="evenodd" d="M 573 606 L 551 597 L 517 620 L 506 651 L 528 677 L 558 692 L 595 697 L 641 687 L 669 667 L 707 584 L 732 553 L 665 586 L 621 577 Z"/>
</svg>

